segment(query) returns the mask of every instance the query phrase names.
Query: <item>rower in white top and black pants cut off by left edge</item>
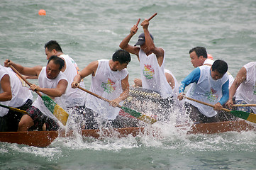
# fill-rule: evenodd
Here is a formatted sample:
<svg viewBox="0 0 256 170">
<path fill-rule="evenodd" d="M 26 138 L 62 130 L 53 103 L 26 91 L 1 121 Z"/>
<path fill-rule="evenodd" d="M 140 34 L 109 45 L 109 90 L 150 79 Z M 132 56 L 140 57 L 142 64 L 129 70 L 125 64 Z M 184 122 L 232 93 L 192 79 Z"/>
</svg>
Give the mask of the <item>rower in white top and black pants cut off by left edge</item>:
<svg viewBox="0 0 256 170">
<path fill-rule="evenodd" d="M 0 103 L 4 106 L 26 111 L 32 104 L 33 99 L 33 95 L 28 87 L 23 86 L 22 80 L 18 78 L 11 68 L 5 68 L 0 65 L 0 77 L 0 89 L 2 92 L 0 94 Z M 0 108 L 0 114 L 0 131 L 16 132 L 23 113 Z"/>
</svg>

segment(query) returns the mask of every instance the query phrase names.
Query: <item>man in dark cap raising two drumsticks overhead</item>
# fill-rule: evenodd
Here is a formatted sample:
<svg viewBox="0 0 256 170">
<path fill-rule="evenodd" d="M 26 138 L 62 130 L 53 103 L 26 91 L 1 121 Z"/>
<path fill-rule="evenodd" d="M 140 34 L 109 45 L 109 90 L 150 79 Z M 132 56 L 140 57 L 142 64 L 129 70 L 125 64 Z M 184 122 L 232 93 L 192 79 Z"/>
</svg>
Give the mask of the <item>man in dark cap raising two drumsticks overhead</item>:
<svg viewBox="0 0 256 170">
<path fill-rule="evenodd" d="M 169 88 L 165 77 L 165 50 L 162 47 L 155 47 L 153 37 L 148 31 L 147 19 L 141 23 L 141 26 L 143 26 L 144 33 L 139 35 L 138 42 L 134 46 L 129 45 L 128 42 L 138 31 L 136 25 L 131 28 L 130 34 L 123 39 L 119 46 L 123 50 L 137 55 L 144 89 L 157 91 L 162 98 L 172 97 L 174 92 Z M 140 47 L 136 45 L 140 45 Z"/>
</svg>

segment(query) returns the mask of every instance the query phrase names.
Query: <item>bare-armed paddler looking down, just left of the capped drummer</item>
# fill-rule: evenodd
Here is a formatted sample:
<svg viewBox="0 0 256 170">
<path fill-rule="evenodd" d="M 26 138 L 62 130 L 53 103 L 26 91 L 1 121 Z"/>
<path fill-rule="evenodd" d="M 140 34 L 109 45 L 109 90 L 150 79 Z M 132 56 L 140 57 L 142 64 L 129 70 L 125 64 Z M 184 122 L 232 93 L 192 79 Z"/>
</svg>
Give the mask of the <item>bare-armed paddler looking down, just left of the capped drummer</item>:
<svg viewBox="0 0 256 170">
<path fill-rule="evenodd" d="M 91 62 L 82 72 L 79 72 L 72 87 L 77 88 L 81 79 L 91 74 L 90 91 L 102 96 L 110 101 L 102 101 L 90 94 L 87 96 L 86 107 L 89 108 L 87 117 L 94 117 L 94 111 L 99 117 L 108 120 L 114 128 L 118 124 L 116 119 L 120 108 L 116 107 L 122 104 L 122 101 L 128 97 L 129 82 L 128 71 L 126 69 L 130 62 L 130 54 L 126 50 L 117 50 L 111 60 L 98 60 Z M 92 111 L 91 111 L 92 110 Z M 91 127 L 96 128 L 96 127 Z"/>
</svg>

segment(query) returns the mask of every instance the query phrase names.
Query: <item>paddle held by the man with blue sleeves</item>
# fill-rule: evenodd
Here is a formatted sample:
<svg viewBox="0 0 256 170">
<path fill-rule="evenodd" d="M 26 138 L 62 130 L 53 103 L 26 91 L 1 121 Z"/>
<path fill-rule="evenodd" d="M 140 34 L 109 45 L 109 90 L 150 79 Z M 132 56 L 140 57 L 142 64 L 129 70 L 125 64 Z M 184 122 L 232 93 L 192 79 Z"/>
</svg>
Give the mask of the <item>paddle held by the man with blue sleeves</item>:
<svg viewBox="0 0 256 170">
<path fill-rule="evenodd" d="M 201 104 L 204 104 L 206 106 L 211 106 L 211 107 L 214 108 L 214 105 L 211 105 L 209 103 L 205 103 L 203 101 L 198 101 L 198 100 L 196 100 L 194 98 L 189 98 L 187 96 L 185 96 L 184 98 L 187 98 L 190 101 L 195 101 L 197 103 L 201 103 Z M 231 113 L 232 115 L 235 115 L 238 118 L 242 118 L 242 119 L 248 120 L 248 121 L 250 121 L 252 123 L 256 123 L 256 114 L 254 114 L 254 113 L 247 113 L 247 112 L 244 112 L 244 111 L 231 111 L 231 110 L 228 110 L 226 108 L 221 108 L 221 110 L 227 111 L 227 112 Z"/>
</svg>

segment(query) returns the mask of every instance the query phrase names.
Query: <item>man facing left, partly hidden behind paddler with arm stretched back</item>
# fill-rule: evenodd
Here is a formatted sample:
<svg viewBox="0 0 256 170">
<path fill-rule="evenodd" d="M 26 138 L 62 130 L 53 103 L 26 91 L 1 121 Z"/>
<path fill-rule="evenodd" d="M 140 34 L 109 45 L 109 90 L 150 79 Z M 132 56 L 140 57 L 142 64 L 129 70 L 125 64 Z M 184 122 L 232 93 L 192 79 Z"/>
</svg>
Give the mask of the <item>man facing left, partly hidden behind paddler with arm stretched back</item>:
<svg viewBox="0 0 256 170">
<path fill-rule="evenodd" d="M 47 56 L 47 60 L 52 55 L 57 55 L 57 57 L 61 57 L 65 61 L 65 66 L 62 68 L 62 72 L 67 77 L 68 81 L 67 90 L 65 92 L 65 104 L 68 110 L 72 108 L 72 113 L 82 112 L 84 110 L 86 93 L 71 87 L 74 77 L 80 72 L 77 63 L 74 62 L 69 55 L 63 54 L 60 44 L 55 40 L 50 40 L 45 43 L 45 55 Z M 84 88 L 84 83 L 81 83 L 80 86 Z"/>
</svg>

